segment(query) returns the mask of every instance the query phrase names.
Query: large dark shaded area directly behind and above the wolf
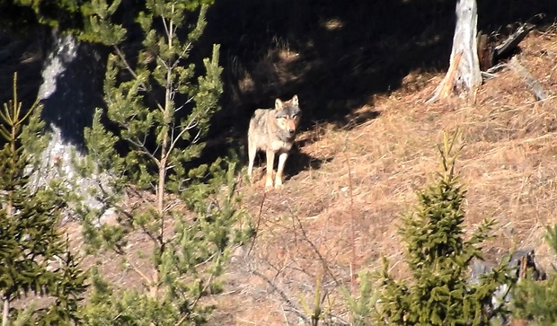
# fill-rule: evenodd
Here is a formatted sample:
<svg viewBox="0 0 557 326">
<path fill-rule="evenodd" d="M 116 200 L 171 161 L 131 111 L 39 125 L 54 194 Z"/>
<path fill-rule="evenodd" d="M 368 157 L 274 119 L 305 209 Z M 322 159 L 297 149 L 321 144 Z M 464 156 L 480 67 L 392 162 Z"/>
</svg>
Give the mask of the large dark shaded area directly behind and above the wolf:
<svg viewBox="0 0 557 326">
<path fill-rule="evenodd" d="M 557 13 L 554 0 L 479 3 L 479 30 L 500 39 L 510 23 L 551 23 Z M 225 67 L 217 130 L 245 137 L 253 110 L 295 93 L 304 128 L 376 119 L 376 94 L 401 88 L 409 74 L 446 71 L 454 31 L 451 1 L 219 0 L 202 39 L 221 44 Z M 353 117 L 364 105 L 372 113 Z"/>
</svg>

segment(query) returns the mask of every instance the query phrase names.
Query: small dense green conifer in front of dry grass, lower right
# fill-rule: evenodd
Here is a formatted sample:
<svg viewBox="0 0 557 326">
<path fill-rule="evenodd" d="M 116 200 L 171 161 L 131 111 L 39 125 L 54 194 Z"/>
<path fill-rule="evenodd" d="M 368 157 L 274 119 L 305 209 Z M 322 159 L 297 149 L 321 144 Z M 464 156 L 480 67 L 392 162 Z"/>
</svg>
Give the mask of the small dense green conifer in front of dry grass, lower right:
<svg viewBox="0 0 557 326">
<path fill-rule="evenodd" d="M 456 136 L 456 134 L 455 134 Z M 455 137 L 445 135 L 439 148 L 438 181 L 418 193 L 414 212 L 402 217 L 400 233 L 411 280 L 396 280 L 388 261 L 380 274 L 378 324 L 488 325 L 490 302 L 497 287 L 510 281 L 503 261 L 480 284 L 467 281 L 473 258 L 481 258 L 481 245 L 494 221 L 485 219 L 469 240 L 464 240 L 465 189 L 455 174 Z"/>
</svg>

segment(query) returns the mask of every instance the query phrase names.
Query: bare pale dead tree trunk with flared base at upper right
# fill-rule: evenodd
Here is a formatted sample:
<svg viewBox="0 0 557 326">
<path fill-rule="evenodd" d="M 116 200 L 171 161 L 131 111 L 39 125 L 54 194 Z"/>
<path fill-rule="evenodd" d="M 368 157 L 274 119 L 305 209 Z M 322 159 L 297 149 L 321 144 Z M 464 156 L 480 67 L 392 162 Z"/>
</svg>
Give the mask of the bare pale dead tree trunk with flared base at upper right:
<svg viewBox="0 0 557 326">
<path fill-rule="evenodd" d="M 475 93 L 482 84 L 476 40 L 477 22 L 476 0 L 458 0 L 450 66 L 427 103 L 443 100 L 452 93 Z"/>
</svg>

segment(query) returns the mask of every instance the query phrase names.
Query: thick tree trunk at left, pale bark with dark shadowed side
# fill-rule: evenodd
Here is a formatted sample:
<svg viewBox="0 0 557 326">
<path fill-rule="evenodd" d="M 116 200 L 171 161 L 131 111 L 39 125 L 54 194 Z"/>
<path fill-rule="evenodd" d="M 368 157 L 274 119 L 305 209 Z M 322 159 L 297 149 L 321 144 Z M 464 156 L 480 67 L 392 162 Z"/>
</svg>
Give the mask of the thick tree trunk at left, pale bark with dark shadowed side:
<svg viewBox="0 0 557 326">
<path fill-rule="evenodd" d="M 84 155 L 84 128 L 91 126 L 95 108 L 104 106 L 102 85 L 108 52 L 57 30 L 51 32 L 51 38 L 37 94 L 43 105 L 42 119 L 51 132 L 37 182 L 42 185 L 55 178 L 71 179 L 84 204 L 100 208 L 102 203 L 87 192 L 97 181 L 94 176 L 79 178 L 72 157 L 76 154 L 79 160 Z"/>
</svg>

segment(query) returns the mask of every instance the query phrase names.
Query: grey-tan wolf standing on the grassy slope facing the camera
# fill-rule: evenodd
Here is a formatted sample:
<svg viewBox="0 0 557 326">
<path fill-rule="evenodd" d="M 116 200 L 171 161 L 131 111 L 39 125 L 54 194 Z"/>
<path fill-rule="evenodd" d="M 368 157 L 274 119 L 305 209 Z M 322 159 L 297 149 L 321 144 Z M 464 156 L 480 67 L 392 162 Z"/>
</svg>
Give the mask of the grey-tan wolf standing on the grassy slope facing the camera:
<svg viewBox="0 0 557 326">
<path fill-rule="evenodd" d="M 265 151 L 267 157 L 267 174 L 265 188 L 273 188 L 273 163 L 275 154 L 279 154 L 279 166 L 275 179 L 275 188 L 282 187 L 282 173 L 287 163 L 288 151 L 294 145 L 296 132 L 300 123 L 302 110 L 298 97 L 294 95 L 288 101 L 275 101 L 275 109 L 257 109 L 253 112 L 248 129 L 248 177 L 252 180 L 253 162 L 258 150 Z"/>
</svg>

